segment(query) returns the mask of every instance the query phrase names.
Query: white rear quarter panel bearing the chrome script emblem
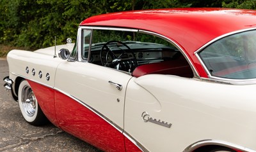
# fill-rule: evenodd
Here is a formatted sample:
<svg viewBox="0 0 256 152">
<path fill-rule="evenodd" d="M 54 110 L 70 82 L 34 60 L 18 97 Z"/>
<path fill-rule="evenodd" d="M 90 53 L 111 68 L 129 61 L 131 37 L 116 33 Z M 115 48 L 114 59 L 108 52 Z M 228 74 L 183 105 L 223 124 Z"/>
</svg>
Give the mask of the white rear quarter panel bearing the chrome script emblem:
<svg viewBox="0 0 256 152">
<path fill-rule="evenodd" d="M 256 102 L 251 98 L 255 85 L 223 85 L 161 74 L 133 80 L 125 98 L 125 131 L 149 151 L 183 151 L 205 139 L 256 149 L 252 134 L 256 132 Z M 148 98 L 150 93 L 140 86 L 156 99 Z M 144 111 L 156 120 L 172 123 L 172 127 L 144 122 Z"/>
</svg>

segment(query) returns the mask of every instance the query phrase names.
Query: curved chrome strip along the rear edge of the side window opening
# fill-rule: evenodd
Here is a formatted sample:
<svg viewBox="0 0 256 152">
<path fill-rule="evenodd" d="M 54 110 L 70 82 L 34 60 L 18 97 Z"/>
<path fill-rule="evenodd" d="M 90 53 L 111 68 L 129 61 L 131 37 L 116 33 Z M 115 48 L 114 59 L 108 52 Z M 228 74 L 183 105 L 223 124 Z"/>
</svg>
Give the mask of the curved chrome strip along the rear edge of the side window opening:
<svg viewBox="0 0 256 152">
<path fill-rule="evenodd" d="M 161 34 L 157 34 L 155 32 L 149 32 L 149 31 L 144 31 L 144 30 L 139 30 L 139 32 L 141 33 L 145 33 L 145 34 L 150 34 L 150 35 L 153 35 L 153 36 L 157 36 L 159 38 L 163 38 L 165 39 L 166 41 L 170 42 L 172 45 L 174 45 L 175 47 L 178 48 L 178 50 L 180 51 L 180 53 L 182 53 L 182 55 L 184 55 L 185 59 L 188 61 L 188 64 L 189 66 L 191 67 L 192 71 L 193 71 L 193 74 L 194 74 L 194 77 L 195 78 L 198 78 L 198 79 L 201 79 L 199 74 L 197 73 L 195 67 L 193 66 L 191 60 L 189 59 L 188 55 L 186 55 L 186 53 L 184 52 L 184 50 L 177 44 L 175 43 L 174 41 L 172 41 L 172 39 L 169 39 L 167 38 L 166 36 L 163 36 Z"/>
</svg>

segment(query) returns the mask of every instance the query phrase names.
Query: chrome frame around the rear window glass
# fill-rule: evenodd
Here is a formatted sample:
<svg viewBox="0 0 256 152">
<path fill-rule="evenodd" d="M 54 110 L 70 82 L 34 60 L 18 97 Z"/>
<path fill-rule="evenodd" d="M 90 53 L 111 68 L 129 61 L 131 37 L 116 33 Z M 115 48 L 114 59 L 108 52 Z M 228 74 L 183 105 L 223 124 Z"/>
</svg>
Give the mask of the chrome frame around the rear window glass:
<svg viewBox="0 0 256 152">
<path fill-rule="evenodd" d="M 256 78 L 253 79 L 229 79 L 229 78 L 220 78 L 218 76 L 212 76 L 210 71 L 207 69 L 207 67 L 205 66 L 203 60 L 200 58 L 199 53 L 204 51 L 204 49 L 211 45 L 212 43 L 225 38 L 227 36 L 231 36 L 234 34 L 238 34 L 241 32 L 246 32 L 246 31 L 254 31 L 256 30 L 256 27 L 253 28 L 248 28 L 248 29 L 242 29 L 242 30 L 238 30 L 238 31 L 234 31 L 234 32 L 229 32 L 227 34 L 223 34 L 217 38 L 212 39 L 211 41 L 209 41 L 208 43 L 206 43 L 205 45 L 203 45 L 202 47 L 200 47 L 198 50 L 196 50 L 196 52 L 194 53 L 196 58 L 198 59 L 198 61 L 200 62 L 200 64 L 202 65 L 202 67 L 204 68 L 205 72 L 207 73 L 207 76 L 209 78 L 201 78 L 204 81 L 214 81 L 216 83 L 226 83 L 226 84 L 230 84 L 230 85 L 250 85 L 250 84 L 255 84 L 256 83 Z"/>
</svg>

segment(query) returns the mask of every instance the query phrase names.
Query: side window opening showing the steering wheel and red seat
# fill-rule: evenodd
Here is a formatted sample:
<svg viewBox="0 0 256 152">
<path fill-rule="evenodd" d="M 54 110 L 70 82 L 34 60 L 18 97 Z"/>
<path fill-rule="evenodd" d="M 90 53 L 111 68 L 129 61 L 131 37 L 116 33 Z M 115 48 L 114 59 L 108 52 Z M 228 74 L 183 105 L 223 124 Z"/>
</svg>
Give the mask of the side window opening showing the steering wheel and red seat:
<svg viewBox="0 0 256 152">
<path fill-rule="evenodd" d="M 89 43 L 85 43 L 85 40 L 91 33 L 89 62 L 92 64 L 125 71 L 136 77 L 145 74 L 193 77 L 188 62 L 172 43 L 138 31 L 104 29 L 84 31 L 84 58 L 88 58 L 86 52 L 89 49 Z"/>
</svg>

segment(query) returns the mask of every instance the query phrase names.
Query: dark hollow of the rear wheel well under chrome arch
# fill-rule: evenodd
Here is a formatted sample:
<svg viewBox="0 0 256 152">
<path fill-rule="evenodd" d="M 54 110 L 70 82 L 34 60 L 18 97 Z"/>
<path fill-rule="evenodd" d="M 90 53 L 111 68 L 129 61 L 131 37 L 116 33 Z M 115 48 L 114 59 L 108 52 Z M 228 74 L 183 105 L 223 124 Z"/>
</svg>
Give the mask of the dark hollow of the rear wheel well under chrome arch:
<svg viewBox="0 0 256 152">
<path fill-rule="evenodd" d="M 225 146 L 216 146 L 216 145 L 207 145 L 207 146 L 202 146 L 200 148 L 197 148 L 195 149 L 193 152 L 214 152 L 214 150 L 225 150 L 225 151 L 230 151 L 230 152 L 239 152 L 239 151 L 236 151 L 234 149 L 230 149 L 230 148 L 227 148 Z"/>
</svg>

